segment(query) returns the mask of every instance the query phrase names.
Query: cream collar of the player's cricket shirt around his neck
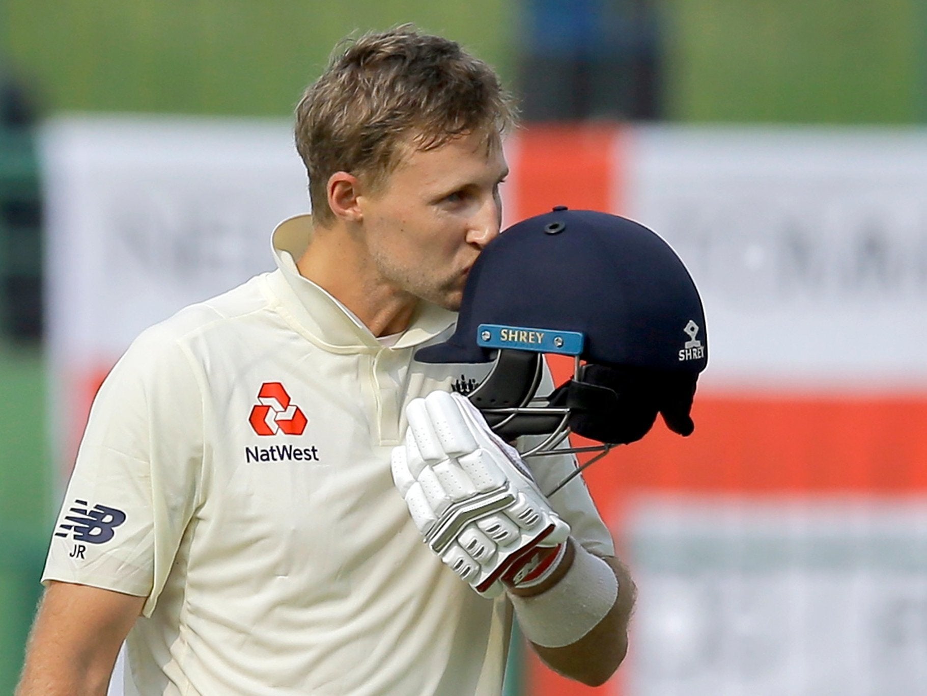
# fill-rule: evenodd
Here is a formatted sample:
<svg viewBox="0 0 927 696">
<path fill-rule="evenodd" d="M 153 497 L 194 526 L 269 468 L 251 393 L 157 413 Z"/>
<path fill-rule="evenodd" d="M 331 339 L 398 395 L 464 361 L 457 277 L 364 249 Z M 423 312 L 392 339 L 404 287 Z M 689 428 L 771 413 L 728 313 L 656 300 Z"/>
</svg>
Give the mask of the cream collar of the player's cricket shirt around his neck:
<svg viewBox="0 0 927 696">
<path fill-rule="evenodd" d="M 326 290 L 302 277 L 296 260 L 312 235 L 312 217 L 296 215 L 273 230 L 273 258 L 277 272 L 268 278 L 282 310 L 311 337 L 334 352 L 355 353 L 381 350 L 376 337 Z M 457 315 L 437 304 L 419 301 L 412 323 L 394 349 L 409 348 L 433 339 L 451 327 Z"/>
</svg>

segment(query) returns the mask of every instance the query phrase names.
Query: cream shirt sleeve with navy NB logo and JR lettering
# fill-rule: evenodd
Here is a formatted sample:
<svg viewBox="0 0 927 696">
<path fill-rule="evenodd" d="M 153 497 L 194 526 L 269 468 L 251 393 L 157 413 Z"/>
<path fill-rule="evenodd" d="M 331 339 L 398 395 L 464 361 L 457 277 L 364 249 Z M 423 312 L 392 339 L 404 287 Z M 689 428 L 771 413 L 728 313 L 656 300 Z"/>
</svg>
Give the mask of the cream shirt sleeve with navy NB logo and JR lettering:
<svg viewBox="0 0 927 696">
<path fill-rule="evenodd" d="M 165 334 L 143 333 L 100 387 L 42 578 L 146 597 L 146 615 L 196 509 L 203 458 L 197 371 Z"/>
</svg>

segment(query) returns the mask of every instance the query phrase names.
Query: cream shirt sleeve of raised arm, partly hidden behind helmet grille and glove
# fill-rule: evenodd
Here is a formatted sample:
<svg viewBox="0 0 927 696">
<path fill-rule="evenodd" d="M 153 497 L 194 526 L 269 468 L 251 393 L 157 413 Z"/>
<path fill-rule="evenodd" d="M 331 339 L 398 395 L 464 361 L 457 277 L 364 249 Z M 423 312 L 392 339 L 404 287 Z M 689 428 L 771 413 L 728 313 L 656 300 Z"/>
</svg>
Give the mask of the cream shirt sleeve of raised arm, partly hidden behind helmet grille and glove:
<svg viewBox="0 0 927 696">
<path fill-rule="evenodd" d="M 550 367 L 544 361 L 544 373 L 540 380 L 538 393 L 551 393 L 552 390 L 553 377 Z M 521 438 L 518 449 L 525 451 L 527 447 L 540 445 L 544 437 L 544 435 L 524 436 Z M 568 440 L 565 440 L 559 446 L 567 448 L 570 445 Z M 551 491 L 578 467 L 576 455 L 573 454 L 527 458 L 527 465 L 543 493 Z M 550 496 L 549 502 L 552 508 L 569 523 L 571 535 L 583 548 L 596 556 L 615 555 L 612 535 L 603 522 L 599 510 L 596 509 L 589 488 L 581 474 L 575 476 L 570 483 Z"/>
</svg>

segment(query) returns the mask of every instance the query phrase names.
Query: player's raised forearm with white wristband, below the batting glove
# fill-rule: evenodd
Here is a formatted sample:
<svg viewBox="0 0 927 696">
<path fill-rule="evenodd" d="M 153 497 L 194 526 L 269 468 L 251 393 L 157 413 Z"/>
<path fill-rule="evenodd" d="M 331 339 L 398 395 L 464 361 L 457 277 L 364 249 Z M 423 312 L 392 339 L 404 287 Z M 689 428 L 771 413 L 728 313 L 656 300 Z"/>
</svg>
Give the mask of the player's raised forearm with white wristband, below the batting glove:
<svg viewBox="0 0 927 696">
<path fill-rule="evenodd" d="M 571 547 L 575 543 L 571 541 Z M 627 568 L 620 561 L 614 558 L 591 559 L 587 555 L 580 567 L 574 569 L 576 553 L 577 547 L 571 548 L 571 553 L 544 586 L 527 592 L 510 589 L 510 593 L 516 596 L 515 610 L 523 630 L 527 628 L 527 637 L 535 638 L 532 644 L 540 658 L 566 677 L 596 686 L 611 677 L 627 654 L 628 625 L 636 588 Z M 578 553 L 586 552 L 580 548 Z M 591 561 L 603 562 L 607 567 L 595 567 Z M 582 573 L 589 577 L 565 577 L 571 569 L 574 574 Z M 617 592 L 610 608 L 603 605 L 603 597 L 611 599 L 610 595 L 603 595 L 609 589 L 603 584 L 603 574 L 609 570 L 617 580 Z M 599 574 L 598 580 L 595 574 Z M 561 581 L 565 585 L 554 590 Z M 598 588 L 594 590 L 595 596 L 584 597 L 582 591 L 570 591 L 572 584 L 579 581 L 596 584 Z M 596 604 L 598 608 L 594 606 Z M 593 613 L 584 618 L 584 612 Z M 593 623 L 599 615 L 602 618 Z M 573 625 L 570 625 L 571 622 Z M 544 630 L 545 626 L 550 626 L 552 630 Z M 581 635 L 563 644 L 563 640 L 575 634 Z"/>
</svg>

